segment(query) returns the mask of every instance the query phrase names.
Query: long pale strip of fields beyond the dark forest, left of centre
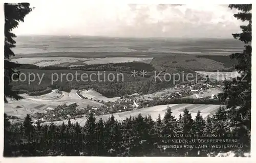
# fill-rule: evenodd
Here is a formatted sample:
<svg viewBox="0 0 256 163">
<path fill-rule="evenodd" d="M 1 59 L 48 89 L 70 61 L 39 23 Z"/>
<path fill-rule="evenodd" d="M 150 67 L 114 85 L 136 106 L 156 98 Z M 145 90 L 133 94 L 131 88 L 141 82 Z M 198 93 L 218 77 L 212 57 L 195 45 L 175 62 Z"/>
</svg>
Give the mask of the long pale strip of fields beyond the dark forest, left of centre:
<svg viewBox="0 0 256 163">
<path fill-rule="evenodd" d="M 35 58 L 16 58 L 11 62 L 19 64 L 32 64 L 36 66 L 62 66 L 73 67 L 92 64 L 122 63 L 122 62 L 144 62 L 150 63 L 153 58 L 135 58 L 135 57 L 114 57 L 114 58 L 72 58 L 72 57 L 35 57 Z"/>
</svg>

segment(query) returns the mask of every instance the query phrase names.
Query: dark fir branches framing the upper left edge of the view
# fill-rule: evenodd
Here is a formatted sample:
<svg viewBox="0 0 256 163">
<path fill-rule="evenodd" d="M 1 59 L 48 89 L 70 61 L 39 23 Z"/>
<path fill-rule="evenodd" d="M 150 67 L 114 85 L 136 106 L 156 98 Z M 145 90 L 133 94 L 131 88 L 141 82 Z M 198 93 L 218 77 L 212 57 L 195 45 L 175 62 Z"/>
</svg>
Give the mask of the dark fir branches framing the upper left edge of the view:
<svg viewBox="0 0 256 163">
<path fill-rule="evenodd" d="M 12 82 L 12 74 L 17 73 L 15 70 L 19 66 L 19 64 L 15 64 L 13 62 L 8 61 L 10 57 L 15 56 L 14 52 L 11 48 L 15 47 L 15 41 L 13 38 L 16 37 L 11 31 L 17 28 L 20 21 L 24 22 L 25 16 L 32 11 L 29 3 L 18 3 L 18 4 L 10 4 L 5 3 L 5 77 L 4 77 L 4 100 L 8 102 L 6 97 L 13 99 L 22 99 L 21 96 L 17 94 L 16 91 L 12 90 L 11 82 Z M 14 75 L 13 78 L 16 79 L 18 75 Z"/>
</svg>

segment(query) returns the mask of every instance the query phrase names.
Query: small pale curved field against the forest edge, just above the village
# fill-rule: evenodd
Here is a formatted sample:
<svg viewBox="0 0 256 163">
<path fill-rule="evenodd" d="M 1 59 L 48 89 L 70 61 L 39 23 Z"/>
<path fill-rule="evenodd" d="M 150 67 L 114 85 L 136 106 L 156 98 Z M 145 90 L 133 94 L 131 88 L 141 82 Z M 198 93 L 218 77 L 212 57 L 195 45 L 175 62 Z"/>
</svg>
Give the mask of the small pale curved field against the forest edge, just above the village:
<svg viewBox="0 0 256 163">
<path fill-rule="evenodd" d="M 119 99 L 119 97 L 114 97 L 114 98 L 105 97 L 105 96 L 101 95 L 100 93 L 94 91 L 93 89 L 81 90 L 80 94 L 83 97 L 87 97 L 88 99 L 92 98 L 94 100 L 99 100 L 99 101 L 102 100 L 104 102 L 108 102 L 108 101 L 114 102 Z"/>
</svg>

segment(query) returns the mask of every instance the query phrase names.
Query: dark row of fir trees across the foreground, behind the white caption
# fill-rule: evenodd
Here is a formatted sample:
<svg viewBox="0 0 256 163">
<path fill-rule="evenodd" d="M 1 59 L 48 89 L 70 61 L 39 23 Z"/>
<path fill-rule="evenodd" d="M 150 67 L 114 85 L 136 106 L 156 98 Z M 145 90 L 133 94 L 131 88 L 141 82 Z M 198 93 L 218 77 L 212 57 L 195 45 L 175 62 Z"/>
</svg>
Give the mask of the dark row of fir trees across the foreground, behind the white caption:
<svg viewBox="0 0 256 163">
<path fill-rule="evenodd" d="M 193 119 L 187 109 L 176 119 L 170 107 L 167 107 L 163 119 L 159 115 L 156 121 L 150 115 L 142 117 L 141 114 L 127 117 L 123 121 L 117 121 L 112 115 L 103 121 L 89 114 L 86 124 L 80 126 L 78 122 L 74 124 L 70 120 L 68 124 L 62 125 L 53 122 L 42 125 L 40 121 L 33 125 L 29 115 L 23 123 L 11 124 L 5 115 L 4 156 L 213 156 L 230 150 L 243 156 L 244 152 L 250 150 L 248 130 L 230 128 L 230 116 L 229 111 L 220 107 L 215 115 L 206 119 L 203 119 L 200 112 Z M 223 137 L 210 139 L 242 138 L 238 142 L 242 148 L 159 148 L 161 145 L 175 145 L 159 138 L 159 135 L 164 134 L 224 134 Z M 228 137 L 228 134 L 232 136 Z M 196 137 L 184 139 L 190 142 L 185 144 L 191 145 L 191 140 Z M 200 144 L 194 142 L 193 145 Z"/>
</svg>

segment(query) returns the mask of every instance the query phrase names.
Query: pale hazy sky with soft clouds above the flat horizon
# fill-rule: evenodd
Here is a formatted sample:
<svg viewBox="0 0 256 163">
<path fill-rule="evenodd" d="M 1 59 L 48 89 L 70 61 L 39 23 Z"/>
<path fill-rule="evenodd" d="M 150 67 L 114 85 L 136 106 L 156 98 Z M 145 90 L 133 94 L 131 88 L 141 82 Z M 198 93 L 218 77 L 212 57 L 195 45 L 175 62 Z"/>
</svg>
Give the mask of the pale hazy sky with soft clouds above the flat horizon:
<svg viewBox="0 0 256 163">
<path fill-rule="evenodd" d="M 72 1 L 71 1 L 72 2 Z M 227 5 L 127 5 L 66 1 L 31 3 L 17 35 L 225 37 L 241 24 Z"/>
</svg>

